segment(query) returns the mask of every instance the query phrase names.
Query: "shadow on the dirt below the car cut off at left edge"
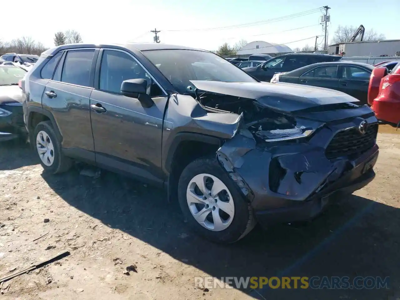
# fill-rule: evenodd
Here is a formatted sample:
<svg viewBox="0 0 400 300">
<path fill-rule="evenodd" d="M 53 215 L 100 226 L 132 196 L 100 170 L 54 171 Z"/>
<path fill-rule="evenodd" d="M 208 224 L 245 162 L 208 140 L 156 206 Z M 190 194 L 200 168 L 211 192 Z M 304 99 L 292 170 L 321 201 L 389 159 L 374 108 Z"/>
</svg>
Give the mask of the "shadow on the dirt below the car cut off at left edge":
<svg viewBox="0 0 400 300">
<path fill-rule="evenodd" d="M 15 170 L 39 163 L 37 154 L 25 140 L 15 139 L 0 143 L 0 170 Z"/>
</svg>

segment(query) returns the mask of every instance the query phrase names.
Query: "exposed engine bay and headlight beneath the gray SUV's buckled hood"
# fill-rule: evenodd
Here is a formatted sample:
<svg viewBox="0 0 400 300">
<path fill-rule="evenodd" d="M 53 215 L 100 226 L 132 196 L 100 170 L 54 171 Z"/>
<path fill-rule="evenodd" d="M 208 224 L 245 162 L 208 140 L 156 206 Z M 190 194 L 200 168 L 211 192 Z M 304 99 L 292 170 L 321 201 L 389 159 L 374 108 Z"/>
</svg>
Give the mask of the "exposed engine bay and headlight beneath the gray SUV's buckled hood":
<svg viewBox="0 0 400 300">
<path fill-rule="evenodd" d="M 253 99 L 208 92 L 197 95 L 197 99 L 204 108 L 213 112 L 243 113 L 244 126 L 257 142 L 301 135 L 306 129 L 304 126 L 298 128 L 296 119 L 290 114 L 263 107 Z"/>
</svg>

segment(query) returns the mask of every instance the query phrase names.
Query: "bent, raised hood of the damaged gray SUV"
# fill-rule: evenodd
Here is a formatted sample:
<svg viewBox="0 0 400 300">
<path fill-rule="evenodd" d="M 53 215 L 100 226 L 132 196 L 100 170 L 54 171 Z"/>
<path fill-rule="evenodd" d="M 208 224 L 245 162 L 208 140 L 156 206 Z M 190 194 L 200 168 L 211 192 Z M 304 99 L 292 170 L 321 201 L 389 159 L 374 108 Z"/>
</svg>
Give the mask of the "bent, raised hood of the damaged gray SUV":
<svg viewBox="0 0 400 300">
<path fill-rule="evenodd" d="M 191 80 L 199 90 L 254 99 L 262 106 L 294 112 L 320 105 L 358 102 L 348 94 L 286 82 L 220 82 L 210 80 Z"/>
</svg>

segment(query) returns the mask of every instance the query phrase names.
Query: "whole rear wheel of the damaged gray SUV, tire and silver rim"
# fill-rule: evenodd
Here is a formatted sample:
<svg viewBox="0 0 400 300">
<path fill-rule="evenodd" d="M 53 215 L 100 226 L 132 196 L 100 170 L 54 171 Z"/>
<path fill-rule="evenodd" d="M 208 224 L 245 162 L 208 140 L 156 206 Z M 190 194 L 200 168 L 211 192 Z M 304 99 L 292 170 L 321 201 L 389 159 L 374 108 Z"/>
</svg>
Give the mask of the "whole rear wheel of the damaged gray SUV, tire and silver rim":
<svg viewBox="0 0 400 300">
<path fill-rule="evenodd" d="M 36 125 L 34 138 L 40 164 L 46 172 L 56 174 L 70 169 L 71 159 L 62 154 L 61 144 L 50 121 L 43 121 Z"/>
</svg>

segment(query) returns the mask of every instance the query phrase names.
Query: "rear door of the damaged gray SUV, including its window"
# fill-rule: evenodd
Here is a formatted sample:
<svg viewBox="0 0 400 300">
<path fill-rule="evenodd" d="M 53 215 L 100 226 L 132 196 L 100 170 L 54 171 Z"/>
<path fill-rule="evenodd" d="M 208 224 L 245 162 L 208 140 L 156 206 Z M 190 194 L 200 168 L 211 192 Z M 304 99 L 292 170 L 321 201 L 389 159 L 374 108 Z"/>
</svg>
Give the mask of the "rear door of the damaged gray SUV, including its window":
<svg viewBox="0 0 400 300">
<path fill-rule="evenodd" d="M 96 48 L 64 51 L 42 94 L 43 108 L 52 113 L 60 129 L 63 151 L 88 161 L 94 161 L 89 99 L 98 51 Z"/>
</svg>

